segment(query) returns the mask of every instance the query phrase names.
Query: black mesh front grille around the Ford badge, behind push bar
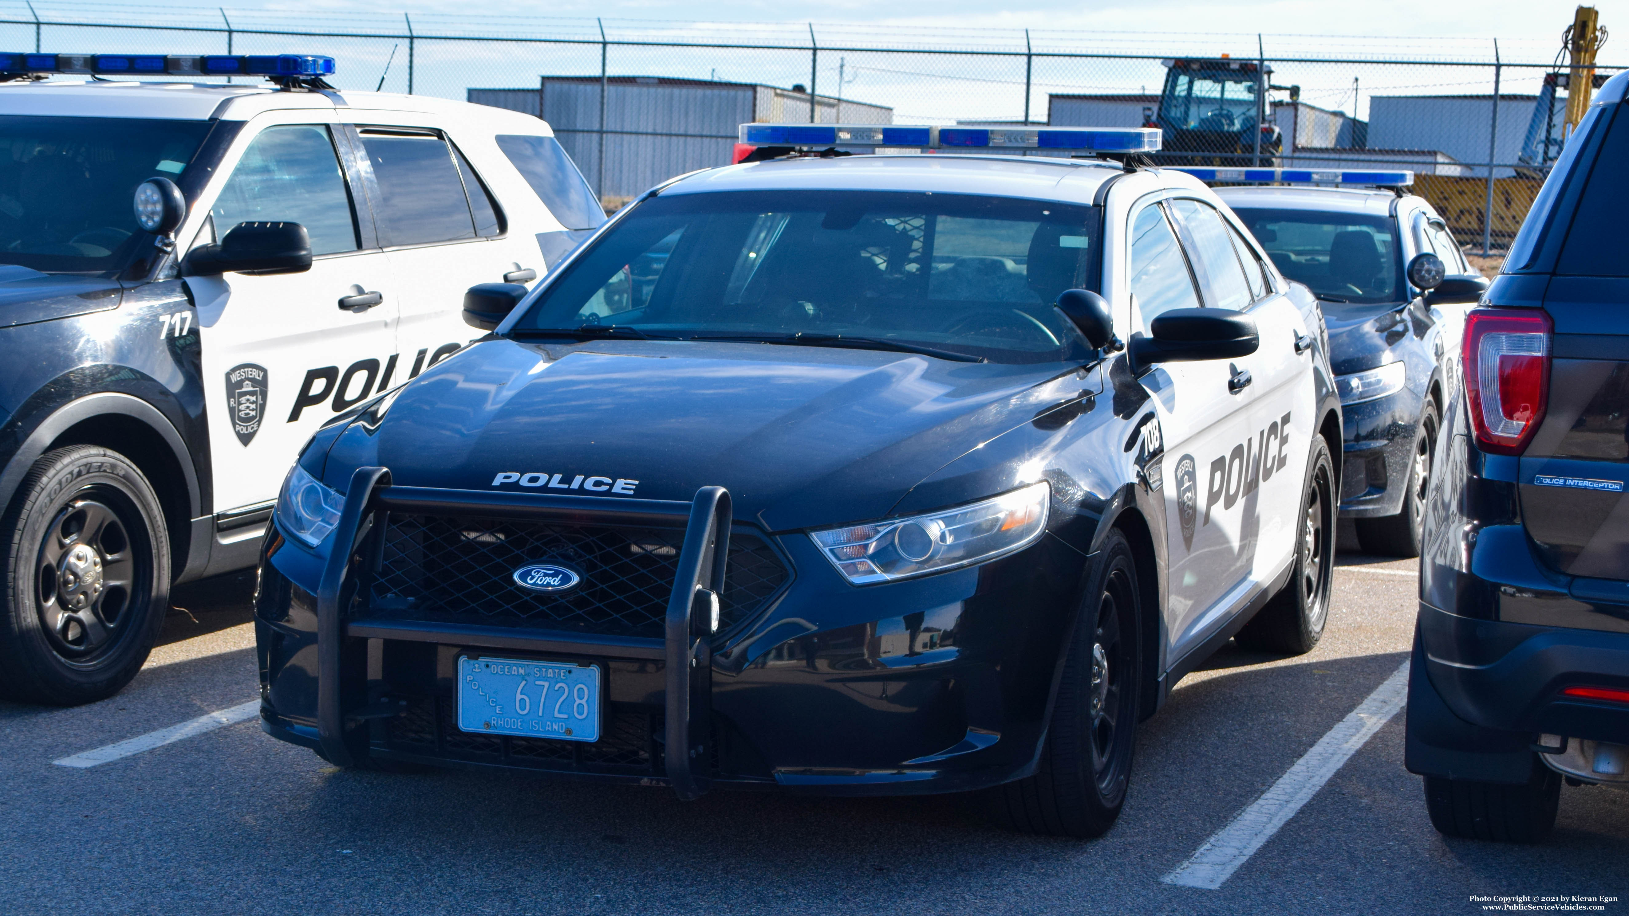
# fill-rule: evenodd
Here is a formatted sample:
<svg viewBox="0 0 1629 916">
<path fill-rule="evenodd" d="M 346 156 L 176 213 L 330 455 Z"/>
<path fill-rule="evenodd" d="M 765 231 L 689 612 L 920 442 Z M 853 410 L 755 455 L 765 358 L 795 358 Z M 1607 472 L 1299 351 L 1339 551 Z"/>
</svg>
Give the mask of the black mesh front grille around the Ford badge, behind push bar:
<svg viewBox="0 0 1629 916">
<path fill-rule="evenodd" d="M 683 543 L 684 529 L 391 513 L 362 613 L 660 639 Z M 582 568 L 583 582 L 562 594 L 515 584 L 515 569 L 551 560 Z M 785 579 L 762 539 L 731 532 L 720 630 L 751 617 Z"/>
</svg>

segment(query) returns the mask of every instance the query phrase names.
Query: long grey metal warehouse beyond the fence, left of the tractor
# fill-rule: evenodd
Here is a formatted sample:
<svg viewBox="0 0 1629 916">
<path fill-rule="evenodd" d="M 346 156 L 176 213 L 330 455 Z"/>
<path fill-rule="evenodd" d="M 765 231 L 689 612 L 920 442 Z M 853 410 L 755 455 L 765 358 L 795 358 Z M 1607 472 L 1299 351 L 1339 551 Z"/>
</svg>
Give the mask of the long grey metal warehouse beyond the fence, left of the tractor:
<svg viewBox="0 0 1629 916">
<path fill-rule="evenodd" d="M 542 76 L 525 89 L 469 89 L 468 101 L 549 122 L 601 198 L 627 198 L 694 169 L 728 164 L 736 130 L 753 120 L 810 120 L 803 86 L 608 76 Z M 818 96 L 823 122 L 893 124 L 894 109 Z M 604 159 L 601 163 L 601 127 Z M 603 169 L 603 171 L 601 171 Z"/>
</svg>

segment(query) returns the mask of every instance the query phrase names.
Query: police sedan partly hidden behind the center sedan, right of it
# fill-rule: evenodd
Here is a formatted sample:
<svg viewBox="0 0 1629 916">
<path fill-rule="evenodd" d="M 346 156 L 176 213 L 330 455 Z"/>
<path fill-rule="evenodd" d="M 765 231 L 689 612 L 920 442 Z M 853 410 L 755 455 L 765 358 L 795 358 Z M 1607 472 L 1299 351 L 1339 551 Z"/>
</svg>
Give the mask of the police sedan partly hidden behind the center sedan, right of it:
<svg viewBox="0 0 1629 916">
<path fill-rule="evenodd" d="M 1344 418 L 1341 514 L 1370 553 L 1417 556 L 1464 311 L 1487 288 L 1407 171 L 1188 169 L 1316 181 L 1218 187 L 1274 265 L 1323 303 Z M 1383 185 L 1383 187 L 1377 187 Z"/>
</svg>

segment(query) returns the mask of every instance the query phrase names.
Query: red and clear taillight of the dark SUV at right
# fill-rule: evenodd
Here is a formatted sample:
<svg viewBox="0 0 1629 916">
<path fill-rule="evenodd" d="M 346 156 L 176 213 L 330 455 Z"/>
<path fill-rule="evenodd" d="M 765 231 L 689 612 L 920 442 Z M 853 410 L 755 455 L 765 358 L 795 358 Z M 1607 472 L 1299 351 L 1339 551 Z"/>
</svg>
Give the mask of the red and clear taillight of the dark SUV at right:
<svg viewBox="0 0 1629 916">
<path fill-rule="evenodd" d="M 1549 399 L 1549 316 L 1538 309 L 1471 309 L 1464 316 L 1464 390 L 1486 452 L 1518 456 Z"/>
</svg>

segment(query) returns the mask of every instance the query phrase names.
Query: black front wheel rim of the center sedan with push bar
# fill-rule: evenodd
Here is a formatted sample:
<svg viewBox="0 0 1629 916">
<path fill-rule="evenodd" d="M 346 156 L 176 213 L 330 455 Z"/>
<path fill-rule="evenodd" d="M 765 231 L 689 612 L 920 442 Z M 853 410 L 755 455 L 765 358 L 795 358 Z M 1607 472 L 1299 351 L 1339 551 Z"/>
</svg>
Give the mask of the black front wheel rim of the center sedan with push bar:
<svg viewBox="0 0 1629 916">
<path fill-rule="evenodd" d="M 1135 610 L 1134 595 L 1131 571 L 1111 568 L 1098 595 L 1087 693 L 1091 776 L 1103 797 L 1119 792 L 1129 770 L 1131 742 L 1126 739 L 1135 711 L 1127 709 L 1132 690 L 1126 678 L 1135 670 L 1135 659 L 1131 657 L 1135 643 L 1126 631 L 1124 618 Z"/>
</svg>

